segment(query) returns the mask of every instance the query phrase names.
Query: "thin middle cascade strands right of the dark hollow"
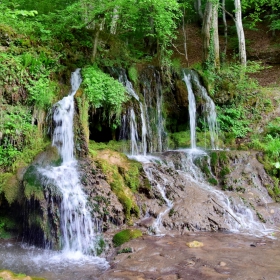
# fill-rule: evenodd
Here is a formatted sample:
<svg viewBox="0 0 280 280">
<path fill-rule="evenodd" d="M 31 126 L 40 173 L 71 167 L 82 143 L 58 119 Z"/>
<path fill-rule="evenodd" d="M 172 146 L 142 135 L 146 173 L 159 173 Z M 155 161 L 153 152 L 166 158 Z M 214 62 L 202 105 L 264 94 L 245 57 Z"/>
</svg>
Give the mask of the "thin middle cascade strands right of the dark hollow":
<svg viewBox="0 0 280 280">
<path fill-rule="evenodd" d="M 144 99 L 140 101 L 139 95 L 128 80 L 125 71 L 119 71 L 119 81 L 125 85 L 127 92 L 135 98 L 136 106 L 131 107 L 123 116 L 121 139 L 130 139 L 131 155 L 146 155 L 148 152 L 162 152 L 164 149 L 164 120 L 162 117 L 162 94 L 159 74 L 154 74 L 156 90 L 155 98 L 151 98 L 151 85 L 145 82 L 143 89 Z M 140 114 L 135 114 L 140 111 Z M 149 122 L 148 122 L 149 120 Z M 129 125 L 128 125 L 129 123 Z M 129 129 L 128 129 L 129 127 Z M 141 129 L 140 129 L 141 128 Z"/>
</svg>

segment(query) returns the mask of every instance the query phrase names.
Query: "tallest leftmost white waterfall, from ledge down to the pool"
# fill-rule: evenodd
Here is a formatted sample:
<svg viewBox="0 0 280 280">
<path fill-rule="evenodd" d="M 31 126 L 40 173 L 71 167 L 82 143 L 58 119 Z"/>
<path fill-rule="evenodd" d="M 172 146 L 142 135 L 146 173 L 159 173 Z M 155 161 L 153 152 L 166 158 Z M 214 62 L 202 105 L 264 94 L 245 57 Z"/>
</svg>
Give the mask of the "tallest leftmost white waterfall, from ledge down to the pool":
<svg viewBox="0 0 280 280">
<path fill-rule="evenodd" d="M 44 184 L 52 184 L 61 194 L 60 229 L 62 248 L 65 252 L 95 254 L 96 231 L 99 222 L 93 221 L 87 206 L 87 196 L 83 192 L 74 158 L 74 95 L 81 83 L 80 69 L 71 76 L 71 92 L 54 105 L 53 146 L 62 158 L 58 167 L 39 168 L 44 175 Z"/>
</svg>

